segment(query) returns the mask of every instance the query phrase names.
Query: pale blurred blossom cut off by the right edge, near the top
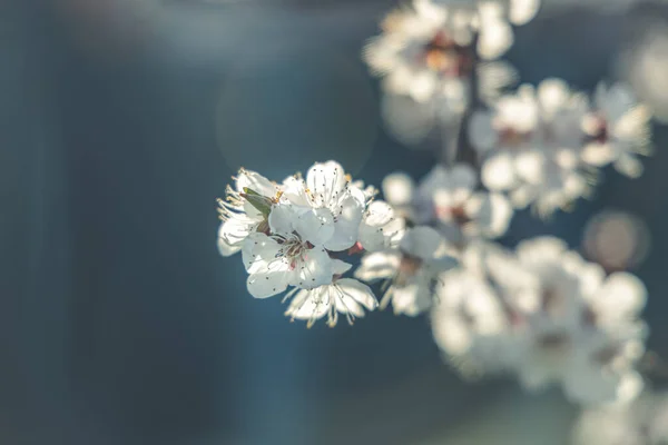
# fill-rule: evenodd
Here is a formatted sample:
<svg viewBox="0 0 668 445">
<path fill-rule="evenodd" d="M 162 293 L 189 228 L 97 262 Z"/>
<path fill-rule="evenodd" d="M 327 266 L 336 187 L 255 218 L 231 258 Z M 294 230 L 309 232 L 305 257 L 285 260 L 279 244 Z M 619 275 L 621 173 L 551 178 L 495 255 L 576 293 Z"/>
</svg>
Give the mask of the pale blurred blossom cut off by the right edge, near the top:
<svg viewBox="0 0 668 445">
<path fill-rule="evenodd" d="M 618 69 L 655 117 L 668 122 L 668 24 L 652 19 L 638 28 L 642 37 L 621 53 Z"/>
</svg>

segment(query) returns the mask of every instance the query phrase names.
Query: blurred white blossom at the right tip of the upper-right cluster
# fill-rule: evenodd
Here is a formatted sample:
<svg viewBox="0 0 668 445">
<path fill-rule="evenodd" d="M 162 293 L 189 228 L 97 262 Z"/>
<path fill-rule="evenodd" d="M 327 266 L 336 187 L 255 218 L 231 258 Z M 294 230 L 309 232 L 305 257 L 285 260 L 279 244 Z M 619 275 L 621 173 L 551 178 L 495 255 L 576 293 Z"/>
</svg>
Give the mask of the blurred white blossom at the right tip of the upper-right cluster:
<svg viewBox="0 0 668 445">
<path fill-rule="evenodd" d="M 582 120 L 588 138 L 582 159 L 596 167 L 612 164 L 619 172 L 637 178 L 642 174 L 642 164 L 636 155 L 649 155 L 648 107 L 638 103 L 621 83 L 600 83 L 593 99 L 593 109 Z"/>
</svg>

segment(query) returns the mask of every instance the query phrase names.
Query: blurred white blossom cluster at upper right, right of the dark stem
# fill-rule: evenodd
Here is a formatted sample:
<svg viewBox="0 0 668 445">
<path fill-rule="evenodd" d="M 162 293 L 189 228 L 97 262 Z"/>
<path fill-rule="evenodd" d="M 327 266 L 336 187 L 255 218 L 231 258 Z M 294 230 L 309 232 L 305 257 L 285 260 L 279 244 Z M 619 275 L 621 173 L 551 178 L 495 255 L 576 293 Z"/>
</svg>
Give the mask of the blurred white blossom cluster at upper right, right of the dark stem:
<svg viewBox="0 0 668 445">
<path fill-rule="evenodd" d="M 597 168 L 613 165 L 638 177 L 636 155 L 649 152 L 649 118 L 623 85 L 601 83 L 589 101 L 548 79 L 475 111 L 468 130 L 485 187 L 508 192 L 515 207 L 533 204 L 549 215 L 587 196 Z"/>
</svg>

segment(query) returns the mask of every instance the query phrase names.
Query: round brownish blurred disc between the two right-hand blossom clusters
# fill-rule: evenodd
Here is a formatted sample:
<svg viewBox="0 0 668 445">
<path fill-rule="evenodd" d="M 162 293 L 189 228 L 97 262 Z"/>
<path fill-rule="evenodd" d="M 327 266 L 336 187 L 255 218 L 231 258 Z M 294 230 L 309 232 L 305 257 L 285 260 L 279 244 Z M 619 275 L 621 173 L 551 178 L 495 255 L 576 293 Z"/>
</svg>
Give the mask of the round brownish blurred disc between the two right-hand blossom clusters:
<svg viewBox="0 0 668 445">
<path fill-rule="evenodd" d="M 650 235 L 641 219 L 608 210 L 587 222 L 582 246 L 587 256 L 606 270 L 626 270 L 646 258 Z"/>
</svg>

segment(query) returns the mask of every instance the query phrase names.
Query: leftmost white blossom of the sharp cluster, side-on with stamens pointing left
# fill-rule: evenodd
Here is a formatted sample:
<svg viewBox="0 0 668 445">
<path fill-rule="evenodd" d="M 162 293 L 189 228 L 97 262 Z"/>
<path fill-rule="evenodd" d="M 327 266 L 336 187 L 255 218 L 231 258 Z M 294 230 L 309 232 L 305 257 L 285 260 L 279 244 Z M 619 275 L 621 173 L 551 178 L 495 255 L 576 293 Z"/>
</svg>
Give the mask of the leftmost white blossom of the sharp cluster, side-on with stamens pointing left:
<svg viewBox="0 0 668 445">
<path fill-rule="evenodd" d="M 234 179 L 235 188 L 227 186 L 226 199 L 218 199 L 218 250 L 226 257 L 239 251 L 248 235 L 268 227 L 271 206 L 281 195 L 276 184 L 255 171 L 240 169 Z"/>
</svg>

